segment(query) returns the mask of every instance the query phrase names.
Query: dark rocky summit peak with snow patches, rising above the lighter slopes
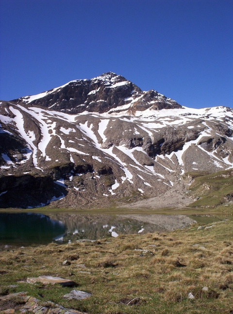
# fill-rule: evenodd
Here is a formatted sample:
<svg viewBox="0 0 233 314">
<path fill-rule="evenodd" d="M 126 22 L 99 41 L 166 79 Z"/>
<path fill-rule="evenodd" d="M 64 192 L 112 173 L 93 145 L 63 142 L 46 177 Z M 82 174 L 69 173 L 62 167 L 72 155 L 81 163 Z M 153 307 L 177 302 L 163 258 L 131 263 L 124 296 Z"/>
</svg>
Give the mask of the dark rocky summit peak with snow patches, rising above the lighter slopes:
<svg viewBox="0 0 233 314">
<path fill-rule="evenodd" d="M 72 81 L 64 87 L 45 92 L 44 97 L 35 100 L 31 100 L 30 96 L 27 96 L 13 100 L 13 102 L 38 105 L 72 114 L 83 111 L 103 113 L 111 110 L 115 112 L 115 108 L 131 103 L 132 106 L 129 110 L 132 113 L 150 107 L 156 110 L 182 107 L 154 90 L 143 92 L 123 76 L 112 72 L 104 73 L 91 80 Z"/>
</svg>

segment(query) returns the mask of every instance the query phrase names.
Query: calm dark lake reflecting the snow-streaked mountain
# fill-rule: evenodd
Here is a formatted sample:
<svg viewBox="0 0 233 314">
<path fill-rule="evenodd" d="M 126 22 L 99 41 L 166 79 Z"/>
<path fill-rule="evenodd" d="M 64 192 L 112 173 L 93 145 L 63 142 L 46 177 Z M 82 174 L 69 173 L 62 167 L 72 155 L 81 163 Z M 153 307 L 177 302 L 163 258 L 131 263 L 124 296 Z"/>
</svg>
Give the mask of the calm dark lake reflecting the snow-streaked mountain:
<svg viewBox="0 0 233 314">
<path fill-rule="evenodd" d="M 156 223 L 156 219 L 150 223 L 150 219 L 149 222 L 142 219 L 145 216 L 134 216 L 136 219 L 124 215 L 106 214 L 2 212 L 0 213 L 0 244 L 73 243 L 80 239 L 96 240 L 117 237 L 119 234 L 142 234 L 166 230 L 167 226 Z M 153 215 L 153 217 L 159 216 L 162 215 Z M 140 221 L 140 217 L 144 221 Z M 190 223 L 186 224 L 188 225 Z M 181 225 L 181 227 L 186 226 Z"/>
</svg>

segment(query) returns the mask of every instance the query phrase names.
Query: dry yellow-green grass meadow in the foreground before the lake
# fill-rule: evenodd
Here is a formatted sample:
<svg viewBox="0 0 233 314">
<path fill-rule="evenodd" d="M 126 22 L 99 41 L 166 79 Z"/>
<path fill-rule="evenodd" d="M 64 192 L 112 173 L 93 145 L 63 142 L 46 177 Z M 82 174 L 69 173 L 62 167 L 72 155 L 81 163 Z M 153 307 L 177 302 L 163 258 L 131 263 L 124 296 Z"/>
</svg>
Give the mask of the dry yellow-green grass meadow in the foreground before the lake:
<svg viewBox="0 0 233 314">
<path fill-rule="evenodd" d="M 0 252 L 1 293 L 28 291 L 91 314 L 230 313 L 233 310 L 233 221 L 197 231 L 119 236 L 96 243 L 49 244 Z M 62 262 L 69 260 L 70 265 Z M 85 264 L 86 268 L 77 267 Z M 81 272 L 84 271 L 85 273 Z M 92 293 L 66 301 L 72 288 L 9 284 L 40 275 L 72 279 Z M 208 291 L 203 291 L 208 287 Z M 189 299 L 192 293 L 194 299 Z M 139 297 L 132 306 L 120 300 Z M 39 298 L 39 297 L 38 297 Z"/>
</svg>

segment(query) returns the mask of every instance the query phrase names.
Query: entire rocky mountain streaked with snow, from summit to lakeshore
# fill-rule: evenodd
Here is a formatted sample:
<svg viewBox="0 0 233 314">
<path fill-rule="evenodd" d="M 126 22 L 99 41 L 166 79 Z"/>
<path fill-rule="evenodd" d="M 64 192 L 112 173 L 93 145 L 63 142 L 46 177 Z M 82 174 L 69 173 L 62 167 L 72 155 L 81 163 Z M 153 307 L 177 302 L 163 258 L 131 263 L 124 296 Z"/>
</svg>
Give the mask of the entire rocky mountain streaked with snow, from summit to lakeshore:
<svg viewBox="0 0 233 314">
<path fill-rule="evenodd" d="M 112 72 L 0 101 L 0 208 L 188 204 L 184 174 L 231 168 L 232 134 L 233 109 L 184 107 Z"/>
</svg>

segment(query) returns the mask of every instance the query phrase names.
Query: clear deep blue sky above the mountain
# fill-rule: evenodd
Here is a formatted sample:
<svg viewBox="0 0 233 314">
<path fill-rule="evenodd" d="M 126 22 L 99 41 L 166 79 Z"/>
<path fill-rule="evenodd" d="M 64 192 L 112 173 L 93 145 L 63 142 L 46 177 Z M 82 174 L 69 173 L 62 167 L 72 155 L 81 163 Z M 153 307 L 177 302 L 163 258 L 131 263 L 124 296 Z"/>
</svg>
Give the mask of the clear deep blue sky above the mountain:
<svg viewBox="0 0 233 314">
<path fill-rule="evenodd" d="M 233 0 L 0 0 L 0 99 L 112 71 L 233 107 Z"/>
</svg>

